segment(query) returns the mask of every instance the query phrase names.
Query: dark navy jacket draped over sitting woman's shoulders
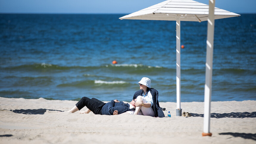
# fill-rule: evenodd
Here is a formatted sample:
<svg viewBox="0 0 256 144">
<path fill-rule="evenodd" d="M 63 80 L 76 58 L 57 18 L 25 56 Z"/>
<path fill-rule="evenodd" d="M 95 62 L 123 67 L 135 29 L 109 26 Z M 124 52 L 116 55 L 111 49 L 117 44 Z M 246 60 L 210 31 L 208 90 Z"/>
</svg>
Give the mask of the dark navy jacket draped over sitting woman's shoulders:
<svg viewBox="0 0 256 144">
<path fill-rule="evenodd" d="M 135 92 L 132 99 L 135 99 L 138 96 L 142 96 L 142 93 L 143 93 L 143 90 L 139 90 L 139 91 Z M 159 102 L 158 102 L 158 91 L 153 88 L 150 88 L 150 93 L 151 93 L 152 99 L 153 99 L 152 108 L 155 112 L 155 117 L 163 118 L 164 114 L 163 114 L 163 111 L 162 111 L 161 107 L 159 106 Z"/>
</svg>

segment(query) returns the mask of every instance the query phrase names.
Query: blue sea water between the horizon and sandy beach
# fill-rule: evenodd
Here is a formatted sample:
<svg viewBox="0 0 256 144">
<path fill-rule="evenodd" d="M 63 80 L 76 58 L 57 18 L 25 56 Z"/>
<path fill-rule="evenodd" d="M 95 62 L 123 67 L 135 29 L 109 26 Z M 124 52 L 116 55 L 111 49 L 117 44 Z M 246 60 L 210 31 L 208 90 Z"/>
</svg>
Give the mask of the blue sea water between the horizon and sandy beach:
<svg viewBox="0 0 256 144">
<path fill-rule="evenodd" d="M 175 21 L 0 14 L 0 96 L 130 101 L 142 77 L 176 102 Z M 212 101 L 256 100 L 256 14 L 215 21 Z M 207 22 L 181 21 L 181 101 L 204 101 Z M 113 65 L 116 60 L 118 64 Z"/>
</svg>

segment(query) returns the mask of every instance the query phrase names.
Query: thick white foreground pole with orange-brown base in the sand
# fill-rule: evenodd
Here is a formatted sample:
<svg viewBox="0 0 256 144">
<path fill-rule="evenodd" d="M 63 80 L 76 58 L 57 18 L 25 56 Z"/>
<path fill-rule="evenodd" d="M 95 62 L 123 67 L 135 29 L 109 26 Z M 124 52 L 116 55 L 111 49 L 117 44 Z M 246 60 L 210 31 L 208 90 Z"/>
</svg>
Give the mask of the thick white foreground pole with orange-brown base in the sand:
<svg viewBox="0 0 256 144">
<path fill-rule="evenodd" d="M 206 63 L 205 63 L 205 109 L 204 109 L 204 131 L 202 136 L 212 136 L 210 133 L 211 94 L 213 77 L 213 38 L 214 38 L 214 7 L 215 0 L 209 0 L 209 18 L 207 26 L 206 41 Z"/>
</svg>

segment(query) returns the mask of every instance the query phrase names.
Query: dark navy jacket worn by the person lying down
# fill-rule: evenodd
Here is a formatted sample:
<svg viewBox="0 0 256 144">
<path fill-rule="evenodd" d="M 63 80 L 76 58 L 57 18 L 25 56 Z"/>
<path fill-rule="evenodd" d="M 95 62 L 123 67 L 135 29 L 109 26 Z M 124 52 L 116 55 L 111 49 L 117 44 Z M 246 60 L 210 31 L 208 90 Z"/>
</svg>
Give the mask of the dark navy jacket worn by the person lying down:
<svg viewBox="0 0 256 144">
<path fill-rule="evenodd" d="M 113 112 L 117 110 L 118 114 L 127 112 L 131 109 L 129 109 L 129 104 L 125 104 L 124 102 L 120 101 L 119 103 L 116 103 L 115 101 L 110 101 L 106 103 L 102 107 L 102 115 L 113 115 Z"/>
</svg>

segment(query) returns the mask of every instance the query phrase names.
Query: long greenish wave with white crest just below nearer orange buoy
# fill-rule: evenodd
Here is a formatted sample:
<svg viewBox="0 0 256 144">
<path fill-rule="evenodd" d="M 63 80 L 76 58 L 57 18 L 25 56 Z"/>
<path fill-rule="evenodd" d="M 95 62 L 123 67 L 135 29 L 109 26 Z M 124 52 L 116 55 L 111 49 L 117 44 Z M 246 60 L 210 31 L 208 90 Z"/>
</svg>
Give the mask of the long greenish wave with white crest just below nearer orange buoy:
<svg viewBox="0 0 256 144">
<path fill-rule="evenodd" d="M 83 74 L 83 76 L 96 76 L 93 73 L 96 71 L 106 71 L 107 73 L 129 73 L 129 74 L 163 74 L 163 73 L 173 73 L 176 71 L 176 68 L 166 68 L 162 66 L 149 66 L 142 64 L 109 64 L 109 65 L 100 65 L 100 66 L 60 66 L 54 65 L 50 63 L 34 63 L 31 65 L 19 65 L 19 66 L 9 66 L 5 68 L 1 68 L 2 70 L 11 70 L 11 71 L 43 71 L 43 72 L 51 72 L 54 71 L 59 73 L 61 71 L 86 71 L 87 74 Z M 91 74 L 89 74 L 89 73 Z M 205 68 L 188 68 L 181 69 L 182 73 L 185 74 L 204 74 Z M 222 75 L 227 73 L 233 74 L 251 74 L 254 75 L 255 71 L 241 68 L 221 68 L 214 69 L 213 75 Z"/>
</svg>

